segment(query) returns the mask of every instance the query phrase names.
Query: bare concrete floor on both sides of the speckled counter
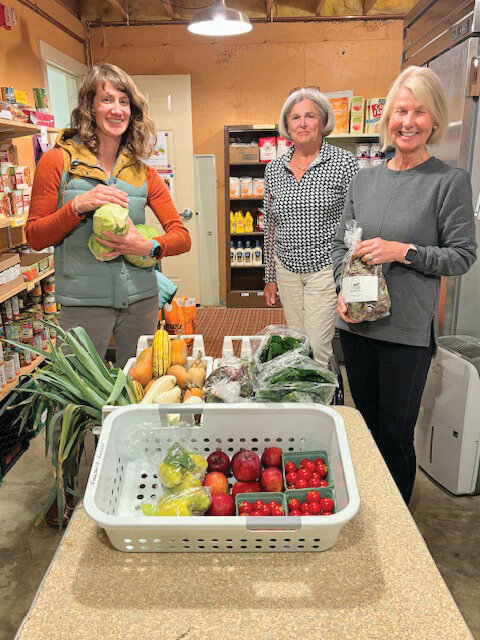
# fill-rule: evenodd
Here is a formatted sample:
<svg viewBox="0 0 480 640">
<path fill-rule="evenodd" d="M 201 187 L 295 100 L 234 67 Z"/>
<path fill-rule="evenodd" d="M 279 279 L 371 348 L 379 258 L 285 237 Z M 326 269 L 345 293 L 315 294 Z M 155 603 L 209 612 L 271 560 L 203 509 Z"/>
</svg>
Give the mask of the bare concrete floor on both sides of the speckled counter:
<svg viewBox="0 0 480 640">
<path fill-rule="evenodd" d="M 345 404 L 352 406 L 348 390 Z M 91 441 L 87 449 L 84 480 Z M 51 483 L 39 436 L 0 486 L 0 640 L 14 638 L 59 542 L 58 532 L 44 523 L 33 528 Z M 480 496 L 453 497 L 419 470 L 410 509 L 474 638 L 480 640 Z"/>
</svg>

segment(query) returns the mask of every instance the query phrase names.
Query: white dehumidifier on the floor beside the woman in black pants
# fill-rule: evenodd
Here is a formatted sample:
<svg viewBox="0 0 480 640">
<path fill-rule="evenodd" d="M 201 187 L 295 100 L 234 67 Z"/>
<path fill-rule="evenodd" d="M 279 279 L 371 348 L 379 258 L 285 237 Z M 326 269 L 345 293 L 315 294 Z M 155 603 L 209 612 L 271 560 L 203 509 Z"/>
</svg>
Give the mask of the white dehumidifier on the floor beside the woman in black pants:
<svg viewBox="0 0 480 640">
<path fill-rule="evenodd" d="M 443 336 L 415 431 L 420 467 L 455 495 L 480 493 L 480 340 Z"/>
</svg>

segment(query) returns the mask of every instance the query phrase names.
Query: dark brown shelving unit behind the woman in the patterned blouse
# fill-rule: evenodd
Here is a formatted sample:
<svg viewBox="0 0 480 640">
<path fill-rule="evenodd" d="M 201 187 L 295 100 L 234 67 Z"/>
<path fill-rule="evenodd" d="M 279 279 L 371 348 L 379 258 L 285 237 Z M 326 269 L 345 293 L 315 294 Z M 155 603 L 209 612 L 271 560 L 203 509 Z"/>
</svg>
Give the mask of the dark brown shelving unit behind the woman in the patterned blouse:
<svg viewBox="0 0 480 640">
<path fill-rule="evenodd" d="M 241 210 L 244 214 L 248 210 L 255 219 L 255 213 L 262 207 L 262 198 L 231 198 L 230 197 L 230 177 L 251 176 L 252 178 L 263 177 L 266 162 L 245 162 L 231 163 L 229 146 L 232 142 L 248 144 L 255 142 L 259 138 L 276 136 L 278 129 L 276 125 L 244 125 L 225 126 L 225 255 L 227 265 L 227 307 L 266 307 L 263 296 L 264 269 L 265 265 L 252 266 L 230 266 L 230 242 L 234 244 L 238 240 L 251 240 L 252 245 L 255 240 L 261 239 L 263 249 L 263 231 L 253 231 L 250 233 L 230 233 L 230 210 Z M 330 144 L 343 147 L 355 153 L 355 145 L 358 142 L 377 142 L 378 136 L 366 133 L 360 134 L 340 134 L 328 136 Z M 280 303 L 277 305 L 280 307 Z"/>
</svg>

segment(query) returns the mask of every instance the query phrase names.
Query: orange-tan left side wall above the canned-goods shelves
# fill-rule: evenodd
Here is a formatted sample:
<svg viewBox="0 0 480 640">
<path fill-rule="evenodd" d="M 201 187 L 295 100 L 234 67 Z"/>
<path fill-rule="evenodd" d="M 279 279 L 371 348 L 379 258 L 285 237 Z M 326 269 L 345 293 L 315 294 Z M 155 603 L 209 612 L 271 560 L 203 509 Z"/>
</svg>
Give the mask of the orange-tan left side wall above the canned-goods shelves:
<svg viewBox="0 0 480 640">
<path fill-rule="evenodd" d="M 33 87 L 45 85 L 39 41 L 43 40 L 62 53 L 84 62 L 83 45 L 16 0 L 7 4 L 17 12 L 17 25 L 10 31 L 0 29 L 0 86 L 26 91 L 34 105 Z M 83 38 L 83 26 L 70 12 L 54 0 L 43 0 L 41 8 L 61 24 Z M 15 141 L 20 161 L 33 167 L 31 138 Z"/>
</svg>

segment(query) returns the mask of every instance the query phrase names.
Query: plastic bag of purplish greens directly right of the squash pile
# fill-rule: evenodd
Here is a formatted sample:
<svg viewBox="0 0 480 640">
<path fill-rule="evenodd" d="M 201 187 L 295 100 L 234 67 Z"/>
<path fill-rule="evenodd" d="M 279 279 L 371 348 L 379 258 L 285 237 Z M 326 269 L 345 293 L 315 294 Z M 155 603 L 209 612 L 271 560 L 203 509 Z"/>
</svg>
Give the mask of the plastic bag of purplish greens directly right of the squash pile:
<svg viewBox="0 0 480 640">
<path fill-rule="evenodd" d="M 243 402 L 253 399 L 253 370 L 247 360 L 220 360 L 203 388 L 205 402 Z"/>
</svg>

